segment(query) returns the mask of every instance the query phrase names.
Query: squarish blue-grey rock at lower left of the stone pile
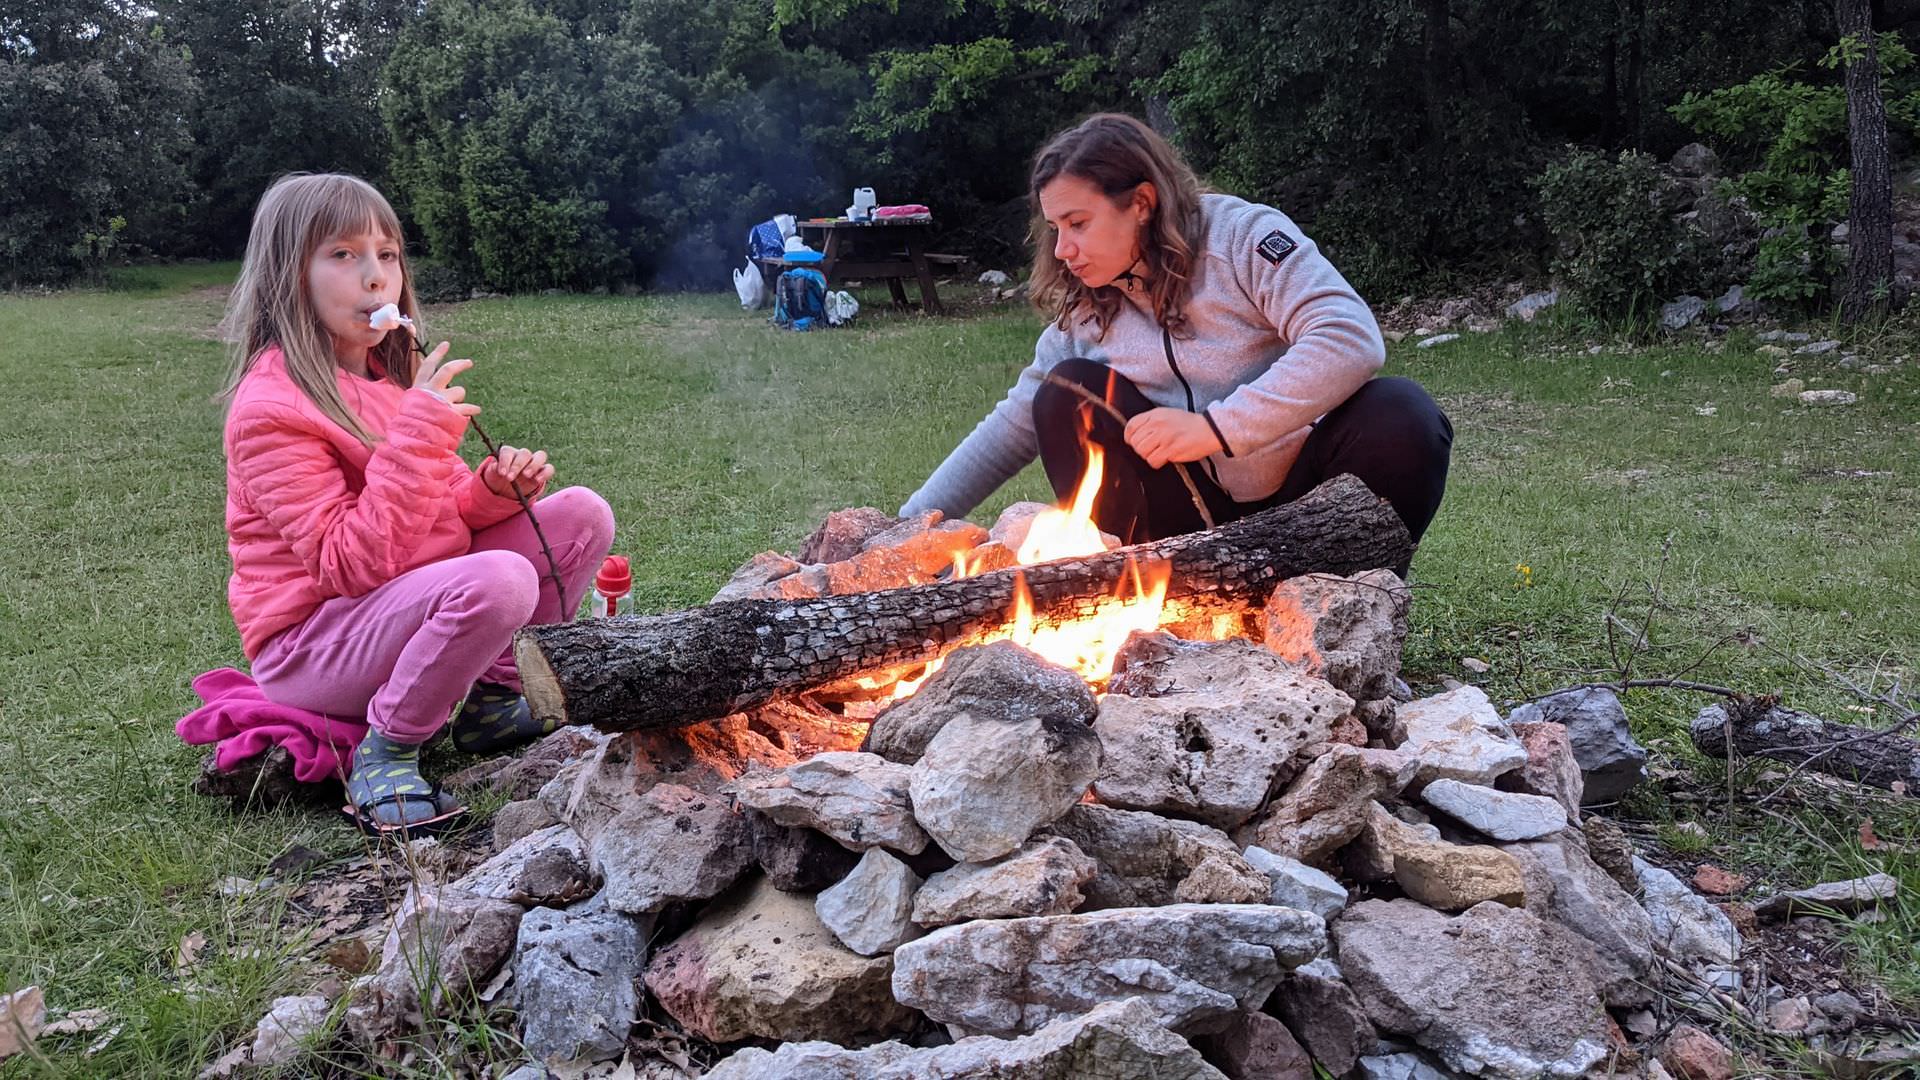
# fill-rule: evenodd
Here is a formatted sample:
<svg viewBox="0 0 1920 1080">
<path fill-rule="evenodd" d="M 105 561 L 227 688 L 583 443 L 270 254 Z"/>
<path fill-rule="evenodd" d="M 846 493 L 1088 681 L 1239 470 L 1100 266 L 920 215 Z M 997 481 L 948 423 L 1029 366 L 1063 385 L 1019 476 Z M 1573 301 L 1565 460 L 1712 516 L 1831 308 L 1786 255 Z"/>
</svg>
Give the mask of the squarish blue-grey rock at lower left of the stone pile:
<svg viewBox="0 0 1920 1080">
<path fill-rule="evenodd" d="M 513 986 L 520 1043 L 534 1061 L 620 1055 L 639 1013 L 634 978 L 647 959 L 649 928 L 651 919 L 605 907 L 526 913 Z"/>
</svg>

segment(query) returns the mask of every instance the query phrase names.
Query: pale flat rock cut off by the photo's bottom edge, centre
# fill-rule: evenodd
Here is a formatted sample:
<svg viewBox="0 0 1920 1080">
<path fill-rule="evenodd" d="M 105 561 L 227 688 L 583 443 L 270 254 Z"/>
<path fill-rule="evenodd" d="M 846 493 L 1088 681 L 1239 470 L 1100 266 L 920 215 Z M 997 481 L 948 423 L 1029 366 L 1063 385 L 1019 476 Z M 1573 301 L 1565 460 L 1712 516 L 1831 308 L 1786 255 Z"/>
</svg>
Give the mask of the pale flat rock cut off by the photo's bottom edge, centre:
<svg viewBox="0 0 1920 1080">
<path fill-rule="evenodd" d="M 883 1042 L 845 1049 L 826 1042 L 741 1049 L 707 1080 L 1225 1080 L 1187 1040 L 1160 1026 L 1137 999 L 1104 1001 L 1031 1036 L 964 1038 L 912 1049 Z"/>
</svg>

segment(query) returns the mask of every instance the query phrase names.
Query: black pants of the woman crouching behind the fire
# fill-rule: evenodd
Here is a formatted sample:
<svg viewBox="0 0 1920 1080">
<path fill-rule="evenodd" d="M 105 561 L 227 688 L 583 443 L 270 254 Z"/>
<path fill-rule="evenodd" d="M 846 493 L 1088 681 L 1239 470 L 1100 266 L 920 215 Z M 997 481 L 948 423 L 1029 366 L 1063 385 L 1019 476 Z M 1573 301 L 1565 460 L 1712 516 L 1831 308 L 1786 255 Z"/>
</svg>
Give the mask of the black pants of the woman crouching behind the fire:
<svg viewBox="0 0 1920 1080">
<path fill-rule="evenodd" d="M 1100 361 L 1064 359 L 1052 373 L 1092 390 L 1125 417 L 1158 407 L 1133 380 Z M 1033 429 L 1041 438 L 1046 479 L 1062 502 L 1071 498 L 1087 471 L 1081 432 L 1100 446 L 1104 469 L 1092 517 L 1102 530 L 1139 544 L 1204 527 L 1175 469 L 1150 469 L 1127 446 L 1125 425 L 1104 409 L 1094 409 L 1079 394 L 1043 382 L 1033 398 Z M 1394 505 L 1419 542 L 1440 509 L 1452 448 L 1453 425 L 1432 396 L 1411 379 L 1386 377 L 1373 379 L 1313 425 L 1286 482 L 1265 500 L 1235 502 L 1202 461 L 1190 463 L 1187 473 L 1200 488 L 1215 525 L 1292 502 L 1321 480 L 1354 473 L 1373 494 Z"/>
</svg>

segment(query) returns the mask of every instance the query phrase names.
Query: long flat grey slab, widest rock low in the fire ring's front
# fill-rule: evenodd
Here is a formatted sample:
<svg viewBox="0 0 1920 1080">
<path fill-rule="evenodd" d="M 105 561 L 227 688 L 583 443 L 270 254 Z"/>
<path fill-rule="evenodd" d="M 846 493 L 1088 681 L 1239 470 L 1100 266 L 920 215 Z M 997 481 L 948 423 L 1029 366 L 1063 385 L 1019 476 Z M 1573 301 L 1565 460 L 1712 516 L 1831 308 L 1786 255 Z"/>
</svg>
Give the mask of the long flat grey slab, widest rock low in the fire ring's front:
<svg viewBox="0 0 1920 1080">
<path fill-rule="evenodd" d="M 895 951 L 893 994 L 979 1034 L 1021 1034 L 1139 995 L 1169 1028 L 1254 1009 L 1327 944 L 1290 907 L 1181 903 L 943 926 Z"/>
</svg>

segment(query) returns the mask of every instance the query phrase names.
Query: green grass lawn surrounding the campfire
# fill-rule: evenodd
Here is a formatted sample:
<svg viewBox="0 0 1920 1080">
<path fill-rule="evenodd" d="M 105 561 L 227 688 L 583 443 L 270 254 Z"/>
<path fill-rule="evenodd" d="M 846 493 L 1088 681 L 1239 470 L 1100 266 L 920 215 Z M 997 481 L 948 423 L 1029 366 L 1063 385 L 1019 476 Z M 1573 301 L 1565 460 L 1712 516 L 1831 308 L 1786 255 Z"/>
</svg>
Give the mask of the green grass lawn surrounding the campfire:
<svg viewBox="0 0 1920 1080">
<path fill-rule="evenodd" d="M 215 882 L 257 876 L 296 842 L 359 847 L 321 811 L 234 817 L 192 796 L 200 753 L 173 736 L 196 703 L 190 676 L 240 661 L 211 400 L 227 367 L 215 286 L 232 271 L 0 296 L 0 984 L 123 1024 L 94 1057 L 81 1055 L 88 1038 L 52 1042 L 4 1076 L 196 1070 L 298 990 L 273 899 L 221 897 Z M 561 482 L 612 502 L 637 605 L 668 609 L 707 600 L 755 552 L 791 550 L 828 509 L 897 507 L 1012 384 L 1037 319 L 920 319 L 876 302 L 856 329 L 787 334 L 728 296 L 515 298 L 432 311 L 430 331 L 478 359 L 465 382 L 495 438 L 547 448 Z M 1619 596 L 1642 625 L 1655 582 L 1636 675 L 1709 653 L 1690 678 L 1778 690 L 1836 719 L 1860 719 L 1855 700 L 1795 657 L 1862 684 L 1916 680 L 1920 363 L 1799 363 L 1809 386 L 1860 394 L 1811 409 L 1768 396 L 1774 361 L 1745 340 L 1720 354 L 1551 344 L 1532 332 L 1394 350 L 1390 369 L 1432 388 L 1457 429 L 1448 502 L 1415 559 L 1415 682 L 1467 678 L 1465 655 L 1492 663 L 1473 678 L 1498 700 L 1607 676 L 1603 615 Z M 1695 411 L 1705 404 L 1715 415 Z M 1043 494 L 1029 469 L 975 519 Z M 1628 698 L 1676 782 L 1713 790 L 1724 765 L 1693 761 L 1684 736 L 1701 703 Z M 1736 780 L 1766 790 L 1757 773 Z M 1920 844 L 1912 811 L 1782 803 L 1778 817 L 1645 796 L 1634 809 L 1659 824 L 1718 815 L 1703 855 L 1764 882 L 1885 867 L 1920 888 L 1912 855 L 1853 840 L 1872 815 L 1889 844 Z M 1907 911 L 1860 928 L 1857 955 L 1916 1007 Z M 194 930 L 209 959 L 182 978 L 173 955 Z"/>
</svg>

